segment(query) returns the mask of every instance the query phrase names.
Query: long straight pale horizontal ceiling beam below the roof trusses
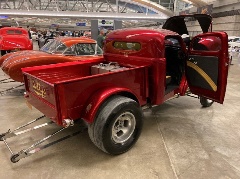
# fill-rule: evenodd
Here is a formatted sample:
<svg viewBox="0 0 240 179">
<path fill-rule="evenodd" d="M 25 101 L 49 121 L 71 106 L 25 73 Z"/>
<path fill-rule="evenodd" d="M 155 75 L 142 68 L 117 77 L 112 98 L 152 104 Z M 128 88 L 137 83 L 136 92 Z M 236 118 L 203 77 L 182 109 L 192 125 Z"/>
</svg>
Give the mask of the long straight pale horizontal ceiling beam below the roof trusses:
<svg viewBox="0 0 240 179">
<path fill-rule="evenodd" d="M 84 19 L 116 19 L 116 20 L 153 20 L 163 21 L 168 17 L 165 14 L 141 13 L 107 13 L 107 12 L 78 12 L 78 11 L 41 11 L 41 10 L 5 10 L 1 9 L 0 15 L 9 17 L 46 17 L 46 18 L 84 18 Z"/>
</svg>

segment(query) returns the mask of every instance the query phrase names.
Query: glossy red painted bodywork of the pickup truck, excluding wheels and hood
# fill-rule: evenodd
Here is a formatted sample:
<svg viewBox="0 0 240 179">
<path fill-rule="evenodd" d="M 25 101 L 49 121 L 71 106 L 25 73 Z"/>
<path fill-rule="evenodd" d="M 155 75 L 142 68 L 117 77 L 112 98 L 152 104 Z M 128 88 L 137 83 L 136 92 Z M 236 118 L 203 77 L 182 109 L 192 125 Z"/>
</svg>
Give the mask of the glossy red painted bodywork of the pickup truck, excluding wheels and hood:
<svg viewBox="0 0 240 179">
<path fill-rule="evenodd" d="M 184 95 L 189 86 L 194 94 L 223 103 L 228 70 L 225 63 L 229 61 L 227 35 L 223 32 L 207 33 L 206 37 L 210 36 L 219 37 L 221 41 L 221 49 L 217 52 L 194 50 L 194 44 L 187 49 L 181 36 L 169 30 L 113 31 L 106 38 L 102 59 L 24 68 L 26 99 L 58 125 L 63 125 L 64 119 L 80 118 L 91 123 L 101 104 L 116 94 L 132 98 L 141 106 L 160 105 L 175 94 Z M 203 34 L 195 38 L 204 37 Z M 177 44 L 169 39 L 177 40 Z M 177 47 L 177 52 L 184 54 L 180 57 L 181 54 L 176 53 L 176 57 L 184 63 L 181 64 L 181 75 L 176 83 L 178 85 L 171 86 L 174 87 L 172 90 L 166 84 L 166 75 L 170 71 L 168 66 L 171 66 L 168 61 L 172 55 L 168 53 L 168 47 L 171 50 Z M 195 56 L 205 59 L 209 55 L 213 56 L 213 61 L 217 64 L 216 74 L 219 76 L 217 81 L 214 81 L 214 77 L 213 82 L 201 69 L 191 65 L 201 64 L 201 61 L 189 60 Z M 91 66 L 101 62 L 118 62 L 128 69 L 92 75 Z M 188 80 L 194 81 L 188 75 L 191 68 L 197 69 L 200 77 L 203 76 L 208 81 L 203 83 L 203 87 L 194 83 L 188 85 Z"/>
</svg>

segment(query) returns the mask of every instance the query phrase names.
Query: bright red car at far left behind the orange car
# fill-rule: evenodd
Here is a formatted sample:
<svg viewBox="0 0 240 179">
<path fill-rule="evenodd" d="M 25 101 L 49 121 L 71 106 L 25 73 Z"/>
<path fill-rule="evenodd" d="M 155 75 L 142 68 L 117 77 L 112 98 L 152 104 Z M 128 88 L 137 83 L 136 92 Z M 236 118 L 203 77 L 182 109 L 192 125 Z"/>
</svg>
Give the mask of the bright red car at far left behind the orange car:
<svg viewBox="0 0 240 179">
<path fill-rule="evenodd" d="M 1 55 L 18 50 L 32 50 L 32 40 L 28 31 L 20 27 L 3 27 L 0 29 Z"/>
</svg>

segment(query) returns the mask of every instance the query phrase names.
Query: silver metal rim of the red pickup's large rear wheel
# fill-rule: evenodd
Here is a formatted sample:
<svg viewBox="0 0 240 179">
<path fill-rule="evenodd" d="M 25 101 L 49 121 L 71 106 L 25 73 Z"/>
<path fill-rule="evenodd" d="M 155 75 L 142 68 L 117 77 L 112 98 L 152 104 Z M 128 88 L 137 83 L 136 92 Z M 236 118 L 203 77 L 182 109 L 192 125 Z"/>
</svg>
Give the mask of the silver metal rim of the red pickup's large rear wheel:
<svg viewBox="0 0 240 179">
<path fill-rule="evenodd" d="M 115 143 L 124 143 L 132 136 L 135 125 L 136 119 L 132 113 L 122 113 L 113 123 L 112 140 Z"/>
</svg>

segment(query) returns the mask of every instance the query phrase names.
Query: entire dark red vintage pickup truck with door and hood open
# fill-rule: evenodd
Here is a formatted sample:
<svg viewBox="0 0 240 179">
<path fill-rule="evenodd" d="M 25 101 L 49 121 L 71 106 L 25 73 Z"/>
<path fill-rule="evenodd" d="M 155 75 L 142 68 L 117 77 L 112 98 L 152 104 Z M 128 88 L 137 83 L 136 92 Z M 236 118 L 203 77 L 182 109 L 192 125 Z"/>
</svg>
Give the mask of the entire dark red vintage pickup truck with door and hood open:
<svg viewBox="0 0 240 179">
<path fill-rule="evenodd" d="M 188 34 L 185 21 L 194 19 L 203 33 L 186 47 L 180 35 Z M 142 108 L 189 89 L 204 107 L 223 103 L 228 37 L 208 32 L 210 27 L 211 17 L 201 14 L 172 17 L 163 29 L 113 31 L 102 59 L 24 68 L 25 97 L 57 125 L 84 120 L 90 139 L 102 151 L 124 153 L 140 136 Z"/>
</svg>

